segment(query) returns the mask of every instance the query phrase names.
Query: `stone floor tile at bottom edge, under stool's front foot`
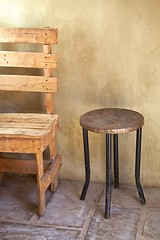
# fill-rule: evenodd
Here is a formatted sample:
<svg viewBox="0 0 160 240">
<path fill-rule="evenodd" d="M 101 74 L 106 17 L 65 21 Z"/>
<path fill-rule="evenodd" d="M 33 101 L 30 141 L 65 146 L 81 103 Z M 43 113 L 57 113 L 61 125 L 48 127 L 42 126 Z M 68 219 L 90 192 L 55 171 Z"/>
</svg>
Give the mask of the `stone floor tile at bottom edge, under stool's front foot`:
<svg viewBox="0 0 160 240">
<path fill-rule="evenodd" d="M 105 219 L 98 207 L 85 240 L 134 240 L 140 219 L 140 209 L 114 208 Z"/>
</svg>

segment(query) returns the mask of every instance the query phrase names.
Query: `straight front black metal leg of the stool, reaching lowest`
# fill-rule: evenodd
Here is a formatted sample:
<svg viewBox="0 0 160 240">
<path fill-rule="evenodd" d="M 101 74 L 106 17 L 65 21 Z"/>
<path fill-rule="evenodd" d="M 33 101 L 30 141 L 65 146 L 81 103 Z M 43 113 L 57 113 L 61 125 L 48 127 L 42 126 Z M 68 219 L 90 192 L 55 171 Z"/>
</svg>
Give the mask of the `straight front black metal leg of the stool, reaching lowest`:
<svg viewBox="0 0 160 240">
<path fill-rule="evenodd" d="M 111 158 L 112 158 L 112 135 L 106 134 L 106 201 L 105 218 L 110 218 L 111 206 Z"/>
</svg>

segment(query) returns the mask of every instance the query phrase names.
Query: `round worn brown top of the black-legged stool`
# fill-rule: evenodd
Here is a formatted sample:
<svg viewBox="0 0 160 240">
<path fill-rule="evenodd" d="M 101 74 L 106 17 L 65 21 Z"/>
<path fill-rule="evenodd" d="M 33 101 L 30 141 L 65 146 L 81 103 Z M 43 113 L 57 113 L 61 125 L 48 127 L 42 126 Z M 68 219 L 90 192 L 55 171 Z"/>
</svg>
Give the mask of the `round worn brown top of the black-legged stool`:
<svg viewBox="0 0 160 240">
<path fill-rule="evenodd" d="M 80 125 L 92 132 L 118 134 L 135 131 L 144 124 L 142 114 L 122 108 L 96 109 L 83 114 Z"/>
</svg>

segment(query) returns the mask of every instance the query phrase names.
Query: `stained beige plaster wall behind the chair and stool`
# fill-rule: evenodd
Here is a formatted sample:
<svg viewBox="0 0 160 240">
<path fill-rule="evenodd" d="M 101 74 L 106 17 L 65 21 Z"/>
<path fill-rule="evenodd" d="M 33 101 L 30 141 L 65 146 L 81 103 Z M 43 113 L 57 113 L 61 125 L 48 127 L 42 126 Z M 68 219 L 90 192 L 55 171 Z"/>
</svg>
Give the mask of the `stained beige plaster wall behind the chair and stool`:
<svg viewBox="0 0 160 240">
<path fill-rule="evenodd" d="M 124 107 L 145 117 L 142 182 L 160 186 L 159 13 L 159 0 L 0 0 L 2 27 L 59 28 L 55 102 L 61 119 L 61 178 L 84 178 L 81 114 Z M 1 94 L 1 108 L 10 108 L 3 99 Z M 91 133 L 90 142 L 92 180 L 105 181 L 105 137 Z M 134 146 L 134 133 L 120 137 L 123 183 L 134 183 Z"/>
</svg>

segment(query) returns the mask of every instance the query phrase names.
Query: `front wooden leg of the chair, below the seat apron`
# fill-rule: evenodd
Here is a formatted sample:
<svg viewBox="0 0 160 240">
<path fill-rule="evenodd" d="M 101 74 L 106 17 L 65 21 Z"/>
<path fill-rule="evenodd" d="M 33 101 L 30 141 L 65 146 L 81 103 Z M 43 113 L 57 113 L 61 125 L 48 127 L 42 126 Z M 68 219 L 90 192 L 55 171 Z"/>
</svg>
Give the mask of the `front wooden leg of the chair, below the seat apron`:
<svg viewBox="0 0 160 240">
<path fill-rule="evenodd" d="M 43 168 L 43 153 L 36 154 L 37 162 L 37 195 L 38 195 L 38 211 L 39 215 L 42 216 L 45 212 L 45 188 L 42 185 L 42 176 L 44 174 Z"/>
</svg>

